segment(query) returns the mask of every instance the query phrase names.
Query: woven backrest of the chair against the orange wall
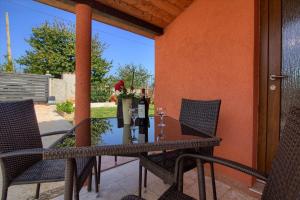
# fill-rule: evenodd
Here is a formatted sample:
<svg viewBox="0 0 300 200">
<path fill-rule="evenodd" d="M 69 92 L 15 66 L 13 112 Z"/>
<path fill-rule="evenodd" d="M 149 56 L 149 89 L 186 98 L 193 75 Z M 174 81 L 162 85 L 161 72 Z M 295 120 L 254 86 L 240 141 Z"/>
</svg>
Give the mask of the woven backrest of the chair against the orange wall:
<svg viewBox="0 0 300 200">
<path fill-rule="evenodd" d="M 182 99 L 179 121 L 201 133 L 215 136 L 221 100 Z"/>
</svg>

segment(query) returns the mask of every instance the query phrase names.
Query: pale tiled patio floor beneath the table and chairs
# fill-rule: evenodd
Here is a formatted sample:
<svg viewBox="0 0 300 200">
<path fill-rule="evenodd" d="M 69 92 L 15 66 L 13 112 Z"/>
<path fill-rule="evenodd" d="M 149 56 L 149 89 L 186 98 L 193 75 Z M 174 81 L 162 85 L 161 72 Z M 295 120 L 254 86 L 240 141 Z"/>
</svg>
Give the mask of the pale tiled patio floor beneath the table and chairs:
<svg viewBox="0 0 300 200">
<path fill-rule="evenodd" d="M 206 177 L 207 199 L 212 199 L 212 189 L 210 178 Z M 184 177 L 184 192 L 194 198 L 198 198 L 198 185 L 196 172 L 190 171 Z M 220 200 L 255 200 L 257 197 L 250 195 L 250 192 L 240 190 L 216 181 L 217 195 Z M 153 174 L 148 174 L 148 187 L 143 190 L 143 197 L 147 200 L 156 200 L 169 186 L 164 184 Z M 138 161 L 105 171 L 101 174 L 100 193 L 88 193 L 83 189 L 80 199 L 84 200 L 119 200 L 127 194 L 137 194 L 138 192 Z M 63 196 L 55 200 L 62 200 Z"/>
</svg>

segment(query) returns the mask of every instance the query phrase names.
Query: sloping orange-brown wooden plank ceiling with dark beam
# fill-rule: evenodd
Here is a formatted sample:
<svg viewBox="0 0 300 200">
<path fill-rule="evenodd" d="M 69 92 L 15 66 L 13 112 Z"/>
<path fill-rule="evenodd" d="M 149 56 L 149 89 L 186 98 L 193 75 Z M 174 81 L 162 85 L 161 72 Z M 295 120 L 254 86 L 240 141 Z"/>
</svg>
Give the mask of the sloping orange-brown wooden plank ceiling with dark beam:
<svg viewBox="0 0 300 200">
<path fill-rule="evenodd" d="M 82 0 L 36 0 L 75 12 Z M 163 34 L 166 28 L 194 0 L 87 0 L 93 19 L 149 38 Z"/>
</svg>

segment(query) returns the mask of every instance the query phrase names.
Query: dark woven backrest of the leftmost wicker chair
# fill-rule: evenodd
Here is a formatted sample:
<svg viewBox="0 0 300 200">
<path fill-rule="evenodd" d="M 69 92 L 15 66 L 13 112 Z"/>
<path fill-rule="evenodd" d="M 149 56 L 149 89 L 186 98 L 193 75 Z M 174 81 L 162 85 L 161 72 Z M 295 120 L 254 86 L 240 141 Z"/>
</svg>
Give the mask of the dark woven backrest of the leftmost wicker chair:
<svg viewBox="0 0 300 200">
<path fill-rule="evenodd" d="M 0 153 L 42 147 L 33 101 L 1 102 Z M 3 176 L 11 181 L 41 159 L 39 155 L 0 159 Z"/>
</svg>

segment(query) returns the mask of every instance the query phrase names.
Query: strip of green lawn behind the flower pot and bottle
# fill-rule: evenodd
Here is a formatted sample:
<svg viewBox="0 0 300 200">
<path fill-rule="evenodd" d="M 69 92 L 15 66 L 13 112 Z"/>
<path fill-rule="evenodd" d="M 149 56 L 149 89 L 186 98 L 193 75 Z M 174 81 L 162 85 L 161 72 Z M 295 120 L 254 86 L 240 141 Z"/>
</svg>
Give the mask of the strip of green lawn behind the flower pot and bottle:
<svg viewBox="0 0 300 200">
<path fill-rule="evenodd" d="M 92 108 L 92 118 L 108 118 L 117 116 L 117 107 L 109 108 Z M 154 115 L 154 105 L 151 104 L 149 107 L 149 116 Z"/>
</svg>

